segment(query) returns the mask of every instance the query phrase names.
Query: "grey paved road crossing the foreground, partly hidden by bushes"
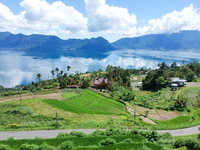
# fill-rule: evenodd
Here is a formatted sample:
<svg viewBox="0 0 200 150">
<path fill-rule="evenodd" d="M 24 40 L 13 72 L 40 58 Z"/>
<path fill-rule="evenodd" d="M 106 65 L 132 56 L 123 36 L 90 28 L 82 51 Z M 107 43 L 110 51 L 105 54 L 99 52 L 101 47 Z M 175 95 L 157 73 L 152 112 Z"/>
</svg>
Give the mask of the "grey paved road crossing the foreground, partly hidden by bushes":
<svg viewBox="0 0 200 150">
<path fill-rule="evenodd" d="M 199 126 L 185 128 L 185 129 L 177 129 L 177 130 L 157 130 L 158 133 L 169 132 L 173 136 L 182 136 L 182 135 L 190 135 L 200 133 L 198 129 Z M 81 131 L 84 133 L 92 133 L 96 129 L 66 129 L 66 130 L 41 130 L 41 131 L 8 131 L 8 132 L 0 132 L 0 140 L 6 140 L 8 137 L 14 136 L 14 139 L 28 139 L 28 138 L 55 138 L 60 132 L 71 132 L 71 131 Z M 105 130 L 105 129 L 102 129 Z"/>
</svg>

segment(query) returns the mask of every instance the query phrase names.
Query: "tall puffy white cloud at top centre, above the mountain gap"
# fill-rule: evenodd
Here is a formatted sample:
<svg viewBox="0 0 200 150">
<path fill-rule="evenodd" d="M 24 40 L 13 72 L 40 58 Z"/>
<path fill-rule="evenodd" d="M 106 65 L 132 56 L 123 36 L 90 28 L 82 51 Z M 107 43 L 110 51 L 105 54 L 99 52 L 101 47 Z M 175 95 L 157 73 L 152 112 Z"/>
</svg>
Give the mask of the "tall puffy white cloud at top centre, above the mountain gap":
<svg viewBox="0 0 200 150">
<path fill-rule="evenodd" d="M 85 8 L 93 22 L 88 25 L 90 32 L 121 33 L 133 29 L 136 16 L 126 8 L 109 6 L 105 0 L 85 0 Z"/>
</svg>

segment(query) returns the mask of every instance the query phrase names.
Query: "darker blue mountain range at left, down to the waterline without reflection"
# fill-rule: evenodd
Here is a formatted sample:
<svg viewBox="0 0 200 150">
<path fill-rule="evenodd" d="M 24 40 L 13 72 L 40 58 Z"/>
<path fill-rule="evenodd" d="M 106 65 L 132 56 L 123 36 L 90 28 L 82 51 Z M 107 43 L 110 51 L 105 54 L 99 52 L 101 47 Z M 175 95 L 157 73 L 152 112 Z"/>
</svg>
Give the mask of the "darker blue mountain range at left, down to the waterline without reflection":
<svg viewBox="0 0 200 150">
<path fill-rule="evenodd" d="M 106 39 L 102 37 L 92 39 L 62 40 L 49 35 L 23 35 L 0 32 L 0 48 L 47 50 L 85 50 L 85 51 L 110 51 L 115 50 Z"/>
</svg>

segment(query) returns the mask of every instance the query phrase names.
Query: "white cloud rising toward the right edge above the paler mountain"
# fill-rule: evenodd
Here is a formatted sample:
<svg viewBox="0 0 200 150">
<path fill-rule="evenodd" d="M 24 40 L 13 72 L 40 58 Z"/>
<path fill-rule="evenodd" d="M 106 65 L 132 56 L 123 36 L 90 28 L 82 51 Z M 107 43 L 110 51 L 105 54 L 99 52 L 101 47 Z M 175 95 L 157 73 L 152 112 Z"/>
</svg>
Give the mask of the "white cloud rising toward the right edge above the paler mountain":
<svg viewBox="0 0 200 150">
<path fill-rule="evenodd" d="M 200 14 L 194 9 L 193 4 L 183 8 L 181 12 L 174 10 L 162 18 L 151 19 L 148 26 L 132 31 L 134 36 L 145 34 L 174 33 L 180 30 L 200 30 Z M 129 32 L 130 33 L 130 32 Z M 128 33 L 127 33 L 128 34 Z"/>
</svg>

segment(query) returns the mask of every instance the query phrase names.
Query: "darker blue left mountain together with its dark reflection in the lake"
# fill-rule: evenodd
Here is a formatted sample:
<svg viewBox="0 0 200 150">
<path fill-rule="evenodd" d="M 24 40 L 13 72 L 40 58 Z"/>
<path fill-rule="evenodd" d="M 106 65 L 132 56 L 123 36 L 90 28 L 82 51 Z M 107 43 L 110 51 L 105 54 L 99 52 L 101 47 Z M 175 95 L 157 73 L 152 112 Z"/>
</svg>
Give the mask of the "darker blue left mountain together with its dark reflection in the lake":
<svg viewBox="0 0 200 150">
<path fill-rule="evenodd" d="M 9 32 L 0 32 L 0 49 L 23 50 L 26 55 L 45 58 L 58 58 L 60 55 L 90 57 L 91 52 L 96 54 L 116 50 L 102 37 L 62 40 L 56 36 L 11 34 Z"/>
</svg>

